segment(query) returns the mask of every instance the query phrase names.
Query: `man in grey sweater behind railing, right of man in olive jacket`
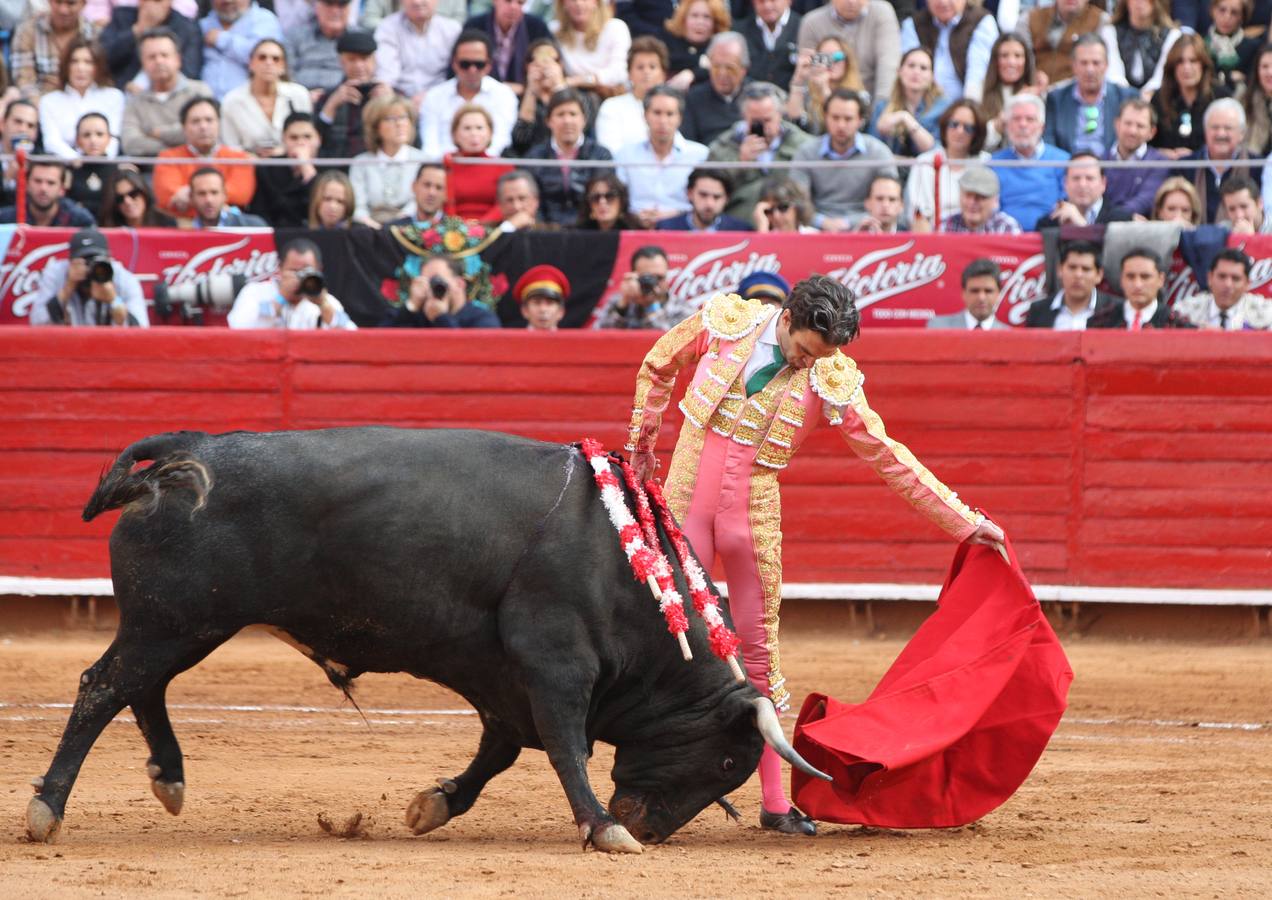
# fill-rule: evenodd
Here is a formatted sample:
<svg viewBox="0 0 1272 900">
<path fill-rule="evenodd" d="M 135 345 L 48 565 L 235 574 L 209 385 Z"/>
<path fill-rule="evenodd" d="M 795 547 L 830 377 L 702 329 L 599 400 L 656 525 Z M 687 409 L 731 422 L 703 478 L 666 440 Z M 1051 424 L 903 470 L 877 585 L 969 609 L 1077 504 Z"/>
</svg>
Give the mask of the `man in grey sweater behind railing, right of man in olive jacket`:
<svg viewBox="0 0 1272 900">
<path fill-rule="evenodd" d="M 876 165 L 794 169 L 791 178 L 813 198 L 813 225 L 823 231 L 846 231 L 865 215 L 870 184 L 879 175 L 897 177 L 888 145 L 862 133 L 869 107 L 855 90 L 837 89 L 822 104 L 826 135 L 813 139 L 795 153 L 795 161 L 874 160 Z"/>
</svg>

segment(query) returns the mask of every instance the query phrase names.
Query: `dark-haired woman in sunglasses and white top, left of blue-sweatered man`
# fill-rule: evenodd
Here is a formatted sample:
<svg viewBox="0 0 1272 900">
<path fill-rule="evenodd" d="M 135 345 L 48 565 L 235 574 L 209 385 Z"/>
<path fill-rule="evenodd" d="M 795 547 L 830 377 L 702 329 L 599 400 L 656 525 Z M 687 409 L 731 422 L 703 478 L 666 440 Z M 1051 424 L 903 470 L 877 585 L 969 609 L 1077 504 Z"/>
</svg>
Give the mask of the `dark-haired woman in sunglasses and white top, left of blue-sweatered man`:
<svg viewBox="0 0 1272 900">
<path fill-rule="evenodd" d="M 940 145 L 921 154 L 906 182 L 906 217 L 911 230 L 931 231 L 936 215 L 936 169 L 941 155 L 941 219 L 959 211 L 959 179 L 968 165 L 990 158 L 985 151 L 986 123 L 981 108 L 972 100 L 955 100 L 936 123 Z"/>
</svg>

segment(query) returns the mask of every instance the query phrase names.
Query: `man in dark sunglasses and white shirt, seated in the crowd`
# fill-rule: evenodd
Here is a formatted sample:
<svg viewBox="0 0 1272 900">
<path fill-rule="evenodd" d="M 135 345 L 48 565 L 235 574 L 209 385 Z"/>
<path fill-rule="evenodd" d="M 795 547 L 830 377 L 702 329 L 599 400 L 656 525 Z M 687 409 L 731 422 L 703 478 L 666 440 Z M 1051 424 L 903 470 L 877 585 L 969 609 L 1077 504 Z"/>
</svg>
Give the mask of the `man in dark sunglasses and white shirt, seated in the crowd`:
<svg viewBox="0 0 1272 900">
<path fill-rule="evenodd" d="M 446 79 L 429 92 L 420 107 L 420 144 L 426 159 L 441 159 L 455 151 L 450 137 L 450 119 L 467 103 L 476 103 L 490 113 L 494 128 L 490 155 L 497 156 L 508 146 L 516 125 L 516 94 L 502 81 L 490 75 L 494 56 L 486 32 L 466 31 L 450 52 L 450 71 Z"/>
</svg>

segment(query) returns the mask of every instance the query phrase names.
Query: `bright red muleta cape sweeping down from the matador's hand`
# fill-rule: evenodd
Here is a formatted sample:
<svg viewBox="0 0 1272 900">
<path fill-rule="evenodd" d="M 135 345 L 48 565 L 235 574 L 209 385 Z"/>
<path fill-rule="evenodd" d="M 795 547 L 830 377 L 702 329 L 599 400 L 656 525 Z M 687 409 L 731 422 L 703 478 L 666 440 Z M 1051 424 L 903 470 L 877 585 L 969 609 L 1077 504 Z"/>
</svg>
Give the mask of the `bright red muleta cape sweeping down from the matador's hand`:
<svg viewBox="0 0 1272 900">
<path fill-rule="evenodd" d="M 834 783 L 791 775 L 813 819 L 953 828 L 1004 803 L 1065 712 L 1074 671 L 1009 545 L 962 544 L 936 611 L 859 704 L 809 694 L 795 749 Z"/>
</svg>

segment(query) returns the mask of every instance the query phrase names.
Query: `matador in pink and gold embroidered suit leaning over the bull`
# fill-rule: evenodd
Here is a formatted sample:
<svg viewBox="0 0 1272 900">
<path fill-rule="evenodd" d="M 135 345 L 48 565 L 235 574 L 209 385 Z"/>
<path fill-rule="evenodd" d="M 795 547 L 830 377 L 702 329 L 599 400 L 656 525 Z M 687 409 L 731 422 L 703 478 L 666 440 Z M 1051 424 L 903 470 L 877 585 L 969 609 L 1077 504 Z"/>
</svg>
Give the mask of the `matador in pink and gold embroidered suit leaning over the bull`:
<svg viewBox="0 0 1272 900">
<path fill-rule="evenodd" d="M 851 292 L 826 276 L 795 285 L 781 309 L 717 294 L 659 338 L 636 378 L 627 450 L 645 481 L 658 465 L 654 446 L 677 374 L 693 367 L 664 492 L 703 564 L 716 558 L 724 564 L 747 675 L 778 709 L 789 708 L 790 694 L 777 652 L 777 478 L 822 419 L 838 428 L 893 491 L 957 540 L 1004 539 L 997 525 L 884 431 L 866 403 L 865 375 L 840 351 L 857 329 Z M 759 782 L 763 828 L 817 833 L 786 798 L 781 760 L 772 750 L 761 758 Z"/>
</svg>

